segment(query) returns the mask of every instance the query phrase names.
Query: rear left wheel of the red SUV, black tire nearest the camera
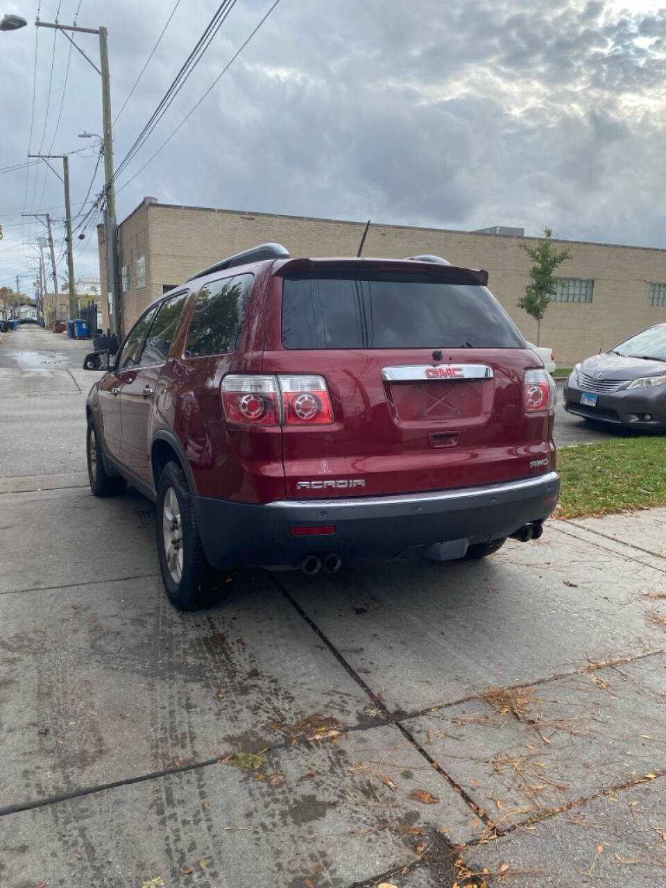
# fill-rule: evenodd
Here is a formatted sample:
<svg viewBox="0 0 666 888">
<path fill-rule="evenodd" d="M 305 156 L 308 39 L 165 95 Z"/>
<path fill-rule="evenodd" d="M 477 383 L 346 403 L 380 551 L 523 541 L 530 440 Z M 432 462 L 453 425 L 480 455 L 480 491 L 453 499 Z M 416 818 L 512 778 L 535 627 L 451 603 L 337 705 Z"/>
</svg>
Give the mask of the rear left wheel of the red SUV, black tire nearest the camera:
<svg viewBox="0 0 666 888">
<path fill-rule="evenodd" d="M 166 529 L 169 512 L 172 522 L 176 522 L 172 523 L 170 531 Z M 173 462 L 164 466 L 157 484 L 155 527 L 164 590 L 171 604 L 178 610 L 191 611 L 228 597 L 222 588 L 223 575 L 206 561 L 186 477 L 180 466 Z M 171 547 L 167 551 L 169 534 Z"/>
</svg>

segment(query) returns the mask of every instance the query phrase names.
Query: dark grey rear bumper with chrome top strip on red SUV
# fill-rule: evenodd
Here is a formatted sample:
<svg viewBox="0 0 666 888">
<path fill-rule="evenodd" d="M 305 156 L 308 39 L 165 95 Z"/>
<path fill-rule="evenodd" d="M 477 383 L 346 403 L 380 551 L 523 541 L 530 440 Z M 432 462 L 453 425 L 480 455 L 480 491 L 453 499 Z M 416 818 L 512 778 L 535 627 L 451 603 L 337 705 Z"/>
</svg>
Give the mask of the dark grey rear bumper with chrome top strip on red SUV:
<svg viewBox="0 0 666 888">
<path fill-rule="evenodd" d="M 548 472 L 480 488 L 345 500 L 283 500 L 255 505 L 194 496 L 206 558 L 214 567 L 294 564 L 305 555 L 390 558 L 432 543 L 481 543 L 548 518 L 559 475 Z M 292 527 L 335 533 L 292 535 Z"/>
</svg>

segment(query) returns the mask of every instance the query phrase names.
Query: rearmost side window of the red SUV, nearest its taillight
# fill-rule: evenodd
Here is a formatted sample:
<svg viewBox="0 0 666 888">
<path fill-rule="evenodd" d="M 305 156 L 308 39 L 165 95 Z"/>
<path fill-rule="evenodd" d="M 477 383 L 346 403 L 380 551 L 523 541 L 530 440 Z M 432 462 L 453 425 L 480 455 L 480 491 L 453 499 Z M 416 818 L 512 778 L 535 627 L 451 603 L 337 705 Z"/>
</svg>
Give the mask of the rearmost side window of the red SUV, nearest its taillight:
<svg viewBox="0 0 666 888">
<path fill-rule="evenodd" d="M 245 320 L 252 281 L 251 274 L 237 274 L 202 288 L 196 297 L 187 334 L 188 358 L 234 351 Z"/>
</svg>

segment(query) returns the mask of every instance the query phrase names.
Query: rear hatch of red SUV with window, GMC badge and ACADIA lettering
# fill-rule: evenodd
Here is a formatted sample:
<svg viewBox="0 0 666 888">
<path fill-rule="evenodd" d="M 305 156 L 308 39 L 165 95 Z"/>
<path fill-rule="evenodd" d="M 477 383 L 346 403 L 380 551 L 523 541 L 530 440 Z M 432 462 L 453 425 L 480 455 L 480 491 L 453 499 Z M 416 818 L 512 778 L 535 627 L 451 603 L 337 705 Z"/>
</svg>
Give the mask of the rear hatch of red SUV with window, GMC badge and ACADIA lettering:
<svg viewBox="0 0 666 888">
<path fill-rule="evenodd" d="M 282 423 L 288 498 L 464 488 L 554 468 L 548 377 L 487 281 L 412 261 L 276 264 L 262 371 L 321 411 Z"/>
</svg>

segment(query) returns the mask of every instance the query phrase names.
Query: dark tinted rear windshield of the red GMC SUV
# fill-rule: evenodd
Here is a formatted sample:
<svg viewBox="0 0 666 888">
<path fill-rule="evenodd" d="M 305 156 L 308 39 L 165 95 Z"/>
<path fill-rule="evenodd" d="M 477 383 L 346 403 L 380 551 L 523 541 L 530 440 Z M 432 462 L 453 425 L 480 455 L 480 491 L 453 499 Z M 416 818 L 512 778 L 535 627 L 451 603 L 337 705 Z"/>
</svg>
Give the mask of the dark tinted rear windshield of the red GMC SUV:
<svg viewBox="0 0 666 888">
<path fill-rule="evenodd" d="M 284 279 L 285 348 L 525 348 L 486 288 L 405 275 Z"/>
</svg>

